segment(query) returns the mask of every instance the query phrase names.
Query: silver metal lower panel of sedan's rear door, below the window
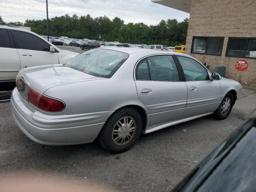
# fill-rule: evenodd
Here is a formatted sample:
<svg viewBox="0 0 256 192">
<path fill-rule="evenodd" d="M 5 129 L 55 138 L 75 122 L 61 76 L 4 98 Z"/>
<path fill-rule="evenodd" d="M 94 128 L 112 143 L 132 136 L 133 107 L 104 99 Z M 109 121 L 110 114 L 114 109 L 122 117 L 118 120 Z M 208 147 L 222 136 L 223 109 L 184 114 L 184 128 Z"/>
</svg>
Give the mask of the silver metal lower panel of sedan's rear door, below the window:
<svg viewBox="0 0 256 192">
<path fill-rule="evenodd" d="M 148 107 L 150 126 L 178 120 L 182 117 L 187 102 L 185 82 L 135 81 L 139 99 Z M 142 90 L 152 90 L 142 94 Z"/>
</svg>

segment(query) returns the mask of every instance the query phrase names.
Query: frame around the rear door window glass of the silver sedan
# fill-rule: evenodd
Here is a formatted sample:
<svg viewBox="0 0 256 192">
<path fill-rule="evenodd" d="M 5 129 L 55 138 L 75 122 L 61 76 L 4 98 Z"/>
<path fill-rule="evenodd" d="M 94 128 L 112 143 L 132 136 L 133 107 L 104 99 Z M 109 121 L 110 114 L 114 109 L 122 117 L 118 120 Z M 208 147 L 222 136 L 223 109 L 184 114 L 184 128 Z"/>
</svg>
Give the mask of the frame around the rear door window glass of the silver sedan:
<svg viewBox="0 0 256 192">
<path fill-rule="evenodd" d="M 180 77 L 180 81 L 155 81 L 155 80 L 151 80 L 151 73 L 150 73 L 150 66 L 149 66 L 149 63 L 148 63 L 148 58 L 149 58 L 149 57 L 153 57 L 153 56 L 170 56 L 170 57 L 172 57 L 173 60 L 174 60 L 175 66 L 176 66 L 176 68 L 177 68 L 177 70 L 178 70 L 178 76 Z M 138 79 L 136 79 L 137 72 L 138 72 L 138 64 L 139 64 L 142 60 L 144 60 L 144 59 L 146 59 L 146 62 L 147 62 L 147 65 L 148 65 L 148 72 L 149 72 L 149 78 L 150 78 L 150 80 L 138 80 Z M 140 58 L 140 59 L 136 62 L 135 66 L 134 66 L 134 81 L 184 82 L 185 79 L 184 79 L 184 75 L 183 75 L 182 73 L 183 73 L 183 71 L 182 71 L 181 68 L 180 68 L 180 63 L 177 62 L 177 59 L 176 59 L 176 57 L 175 57 L 174 54 L 154 54 L 154 55 L 145 56 L 145 57 L 143 57 L 143 58 Z"/>
</svg>

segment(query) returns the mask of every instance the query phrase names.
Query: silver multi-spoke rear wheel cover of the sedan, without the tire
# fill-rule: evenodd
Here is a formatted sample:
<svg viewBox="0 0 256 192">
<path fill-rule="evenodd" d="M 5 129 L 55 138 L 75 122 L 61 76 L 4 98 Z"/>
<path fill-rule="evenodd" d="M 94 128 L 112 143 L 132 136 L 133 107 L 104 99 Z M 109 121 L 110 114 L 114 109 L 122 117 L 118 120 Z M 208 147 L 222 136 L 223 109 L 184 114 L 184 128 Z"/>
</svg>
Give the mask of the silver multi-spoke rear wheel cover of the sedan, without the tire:
<svg viewBox="0 0 256 192">
<path fill-rule="evenodd" d="M 128 144 L 136 132 L 136 122 L 132 117 L 123 117 L 115 124 L 112 131 L 112 140 L 116 145 Z"/>
</svg>

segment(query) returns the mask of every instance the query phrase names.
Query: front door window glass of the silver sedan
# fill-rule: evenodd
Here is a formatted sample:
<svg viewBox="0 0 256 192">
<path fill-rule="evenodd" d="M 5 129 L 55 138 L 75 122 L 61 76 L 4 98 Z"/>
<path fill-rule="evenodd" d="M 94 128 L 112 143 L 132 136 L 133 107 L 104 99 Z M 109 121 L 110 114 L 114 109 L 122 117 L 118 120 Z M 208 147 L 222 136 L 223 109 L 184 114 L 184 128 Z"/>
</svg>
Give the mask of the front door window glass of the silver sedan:
<svg viewBox="0 0 256 192">
<path fill-rule="evenodd" d="M 186 81 L 209 80 L 208 72 L 196 60 L 188 57 L 177 56 L 184 71 Z"/>
</svg>

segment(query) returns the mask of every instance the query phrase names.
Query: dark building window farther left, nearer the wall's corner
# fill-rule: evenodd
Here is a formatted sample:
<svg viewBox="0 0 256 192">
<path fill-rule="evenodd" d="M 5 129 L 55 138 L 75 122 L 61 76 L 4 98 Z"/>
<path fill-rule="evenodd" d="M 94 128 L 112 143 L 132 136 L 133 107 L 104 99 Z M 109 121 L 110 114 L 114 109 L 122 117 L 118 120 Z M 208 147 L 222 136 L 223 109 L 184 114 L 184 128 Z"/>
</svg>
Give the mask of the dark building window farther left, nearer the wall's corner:
<svg viewBox="0 0 256 192">
<path fill-rule="evenodd" d="M 221 55 L 224 37 L 193 37 L 191 53 Z"/>
</svg>

